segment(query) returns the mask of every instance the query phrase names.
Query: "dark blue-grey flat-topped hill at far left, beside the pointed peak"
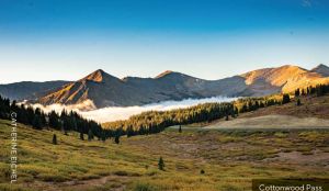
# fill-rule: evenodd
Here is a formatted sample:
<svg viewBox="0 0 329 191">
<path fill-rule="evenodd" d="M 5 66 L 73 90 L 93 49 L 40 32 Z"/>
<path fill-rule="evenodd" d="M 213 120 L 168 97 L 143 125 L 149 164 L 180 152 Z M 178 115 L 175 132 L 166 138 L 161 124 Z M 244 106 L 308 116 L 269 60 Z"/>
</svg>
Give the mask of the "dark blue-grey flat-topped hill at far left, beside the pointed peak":
<svg viewBox="0 0 329 191">
<path fill-rule="evenodd" d="M 0 85 L 0 94 L 11 100 L 33 100 L 47 91 L 56 90 L 69 81 L 22 81 L 9 85 Z"/>
</svg>

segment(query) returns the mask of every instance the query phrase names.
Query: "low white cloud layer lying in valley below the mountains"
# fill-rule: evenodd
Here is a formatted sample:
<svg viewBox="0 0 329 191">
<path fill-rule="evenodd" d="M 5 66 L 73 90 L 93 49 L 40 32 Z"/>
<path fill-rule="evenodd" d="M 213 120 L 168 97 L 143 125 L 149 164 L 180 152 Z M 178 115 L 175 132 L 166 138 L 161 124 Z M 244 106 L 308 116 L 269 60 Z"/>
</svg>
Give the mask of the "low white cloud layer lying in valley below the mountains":
<svg viewBox="0 0 329 191">
<path fill-rule="evenodd" d="M 34 108 L 41 108 L 45 112 L 50 112 L 55 110 L 56 112 L 61 112 L 64 109 L 67 111 L 77 111 L 83 117 L 94 120 L 100 123 L 117 121 L 117 120 L 127 120 L 129 116 L 139 114 L 146 111 L 168 111 L 173 109 L 182 109 L 189 108 L 192 105 L 196 105 L 200 103 L 209 103 L 209 102 L 228 102 L 234 101 L 237 98 L 226 98 L 226 97 L 214 97 L 214 98 L 206 98 L 206 99 L 186 99 L 182 101 L 164 101 L 154 104 L 146 104 L 141 106 L 109 106 L 92 111 L 82 111 L 82 109 L 94 109 L 94 104 L 92 101 L 87 100 L 83 103 L 76 104 L 76 105 L 61 105 L 61 104 L 52 104 L 52 105 L 41 105 L 34 104 Z"/>
</svg>

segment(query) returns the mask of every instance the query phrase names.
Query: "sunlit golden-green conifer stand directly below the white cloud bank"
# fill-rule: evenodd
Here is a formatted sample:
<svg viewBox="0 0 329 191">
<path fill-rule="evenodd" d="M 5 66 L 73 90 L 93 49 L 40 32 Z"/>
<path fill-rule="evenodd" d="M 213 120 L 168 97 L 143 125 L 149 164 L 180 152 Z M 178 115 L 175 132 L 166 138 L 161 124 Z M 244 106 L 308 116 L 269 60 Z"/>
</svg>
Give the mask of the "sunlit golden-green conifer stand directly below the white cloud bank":
<svg viewBox="0 0 329 191">
<path fill-rule="evenodd" d="M 129 120 L 105 123 L 103 126 L 110 130 L 121 128 L 127 136 L 134 136 L 159 133 L 172 125 L 211 122 L 237 114 L 238 110 L 232 103 L 205 103 L 188 109 L 149 111 L 134 115 Z"/>
</svg>

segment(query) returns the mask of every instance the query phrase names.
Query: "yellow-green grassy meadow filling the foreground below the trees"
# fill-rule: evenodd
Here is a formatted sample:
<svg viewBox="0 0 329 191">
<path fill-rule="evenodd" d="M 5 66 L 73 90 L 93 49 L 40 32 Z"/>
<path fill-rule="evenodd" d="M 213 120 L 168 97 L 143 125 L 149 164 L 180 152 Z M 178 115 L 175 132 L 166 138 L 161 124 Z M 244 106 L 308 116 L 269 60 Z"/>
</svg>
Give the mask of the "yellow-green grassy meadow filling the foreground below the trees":
<svg viewBox="0 0 329 191">
<path fill-rule="evenodd" d="M 329 155 L 328 130 L 168 130 L 116 145 L 20 125 L 19 183 L 10 186 L 10 130 L 0 121 L 0 190 L 250 190 L 253 178 L 329 178 L 326 160 L 307 160 Z M 296 153 L 305 158 L 282 158 Z"/>
</svg>

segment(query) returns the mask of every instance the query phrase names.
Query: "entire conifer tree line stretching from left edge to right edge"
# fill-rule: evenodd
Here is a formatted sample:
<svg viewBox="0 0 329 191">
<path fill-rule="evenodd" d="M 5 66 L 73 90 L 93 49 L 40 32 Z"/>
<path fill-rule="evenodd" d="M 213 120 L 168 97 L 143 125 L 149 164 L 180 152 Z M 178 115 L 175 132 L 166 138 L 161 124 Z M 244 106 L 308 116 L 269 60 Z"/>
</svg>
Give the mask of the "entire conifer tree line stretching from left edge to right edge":
<svg viewBox="0 0 329 191">
<path fill-rule="evenodd" d="M 329 93 L 329 85 L 318 85 L 305 89 L 296 89 L 295 97 L 316 94 L 318 97 Z M 86 120 L 77 112 L 63 110 L 60 114 L 52 111 L 44 113 L 41 109 L 33 109 L 24 104 L 10 102 L 9 99 L 0 96 L 0 119 L 10 120 L 10 113 L 18 114 L 19 123 L 31 125 L 36 130 L 52 127 L 63 131 L 65 134 L 69 131 L 80 133 L 80 138 L 105 141 L 114 137 L 115 143 L 120 142 L 123 135 L 135 136 L 155 134 L 172 125 L 186 125 L 191 123 L 211 122 L 217 119 L 236 117 L 239 113 L 256 111 L 275 104 L 285 104 L 291 102 L 291 96 L 283 93 L 281 98 L 261 97 L 243 98 L 226 103 L 204 103 L 186 109 L 177 109 L 170 111 L 148 111 L 134 115 L 128 120 L 104 123 L 103 125 Z"/>
</svg>

